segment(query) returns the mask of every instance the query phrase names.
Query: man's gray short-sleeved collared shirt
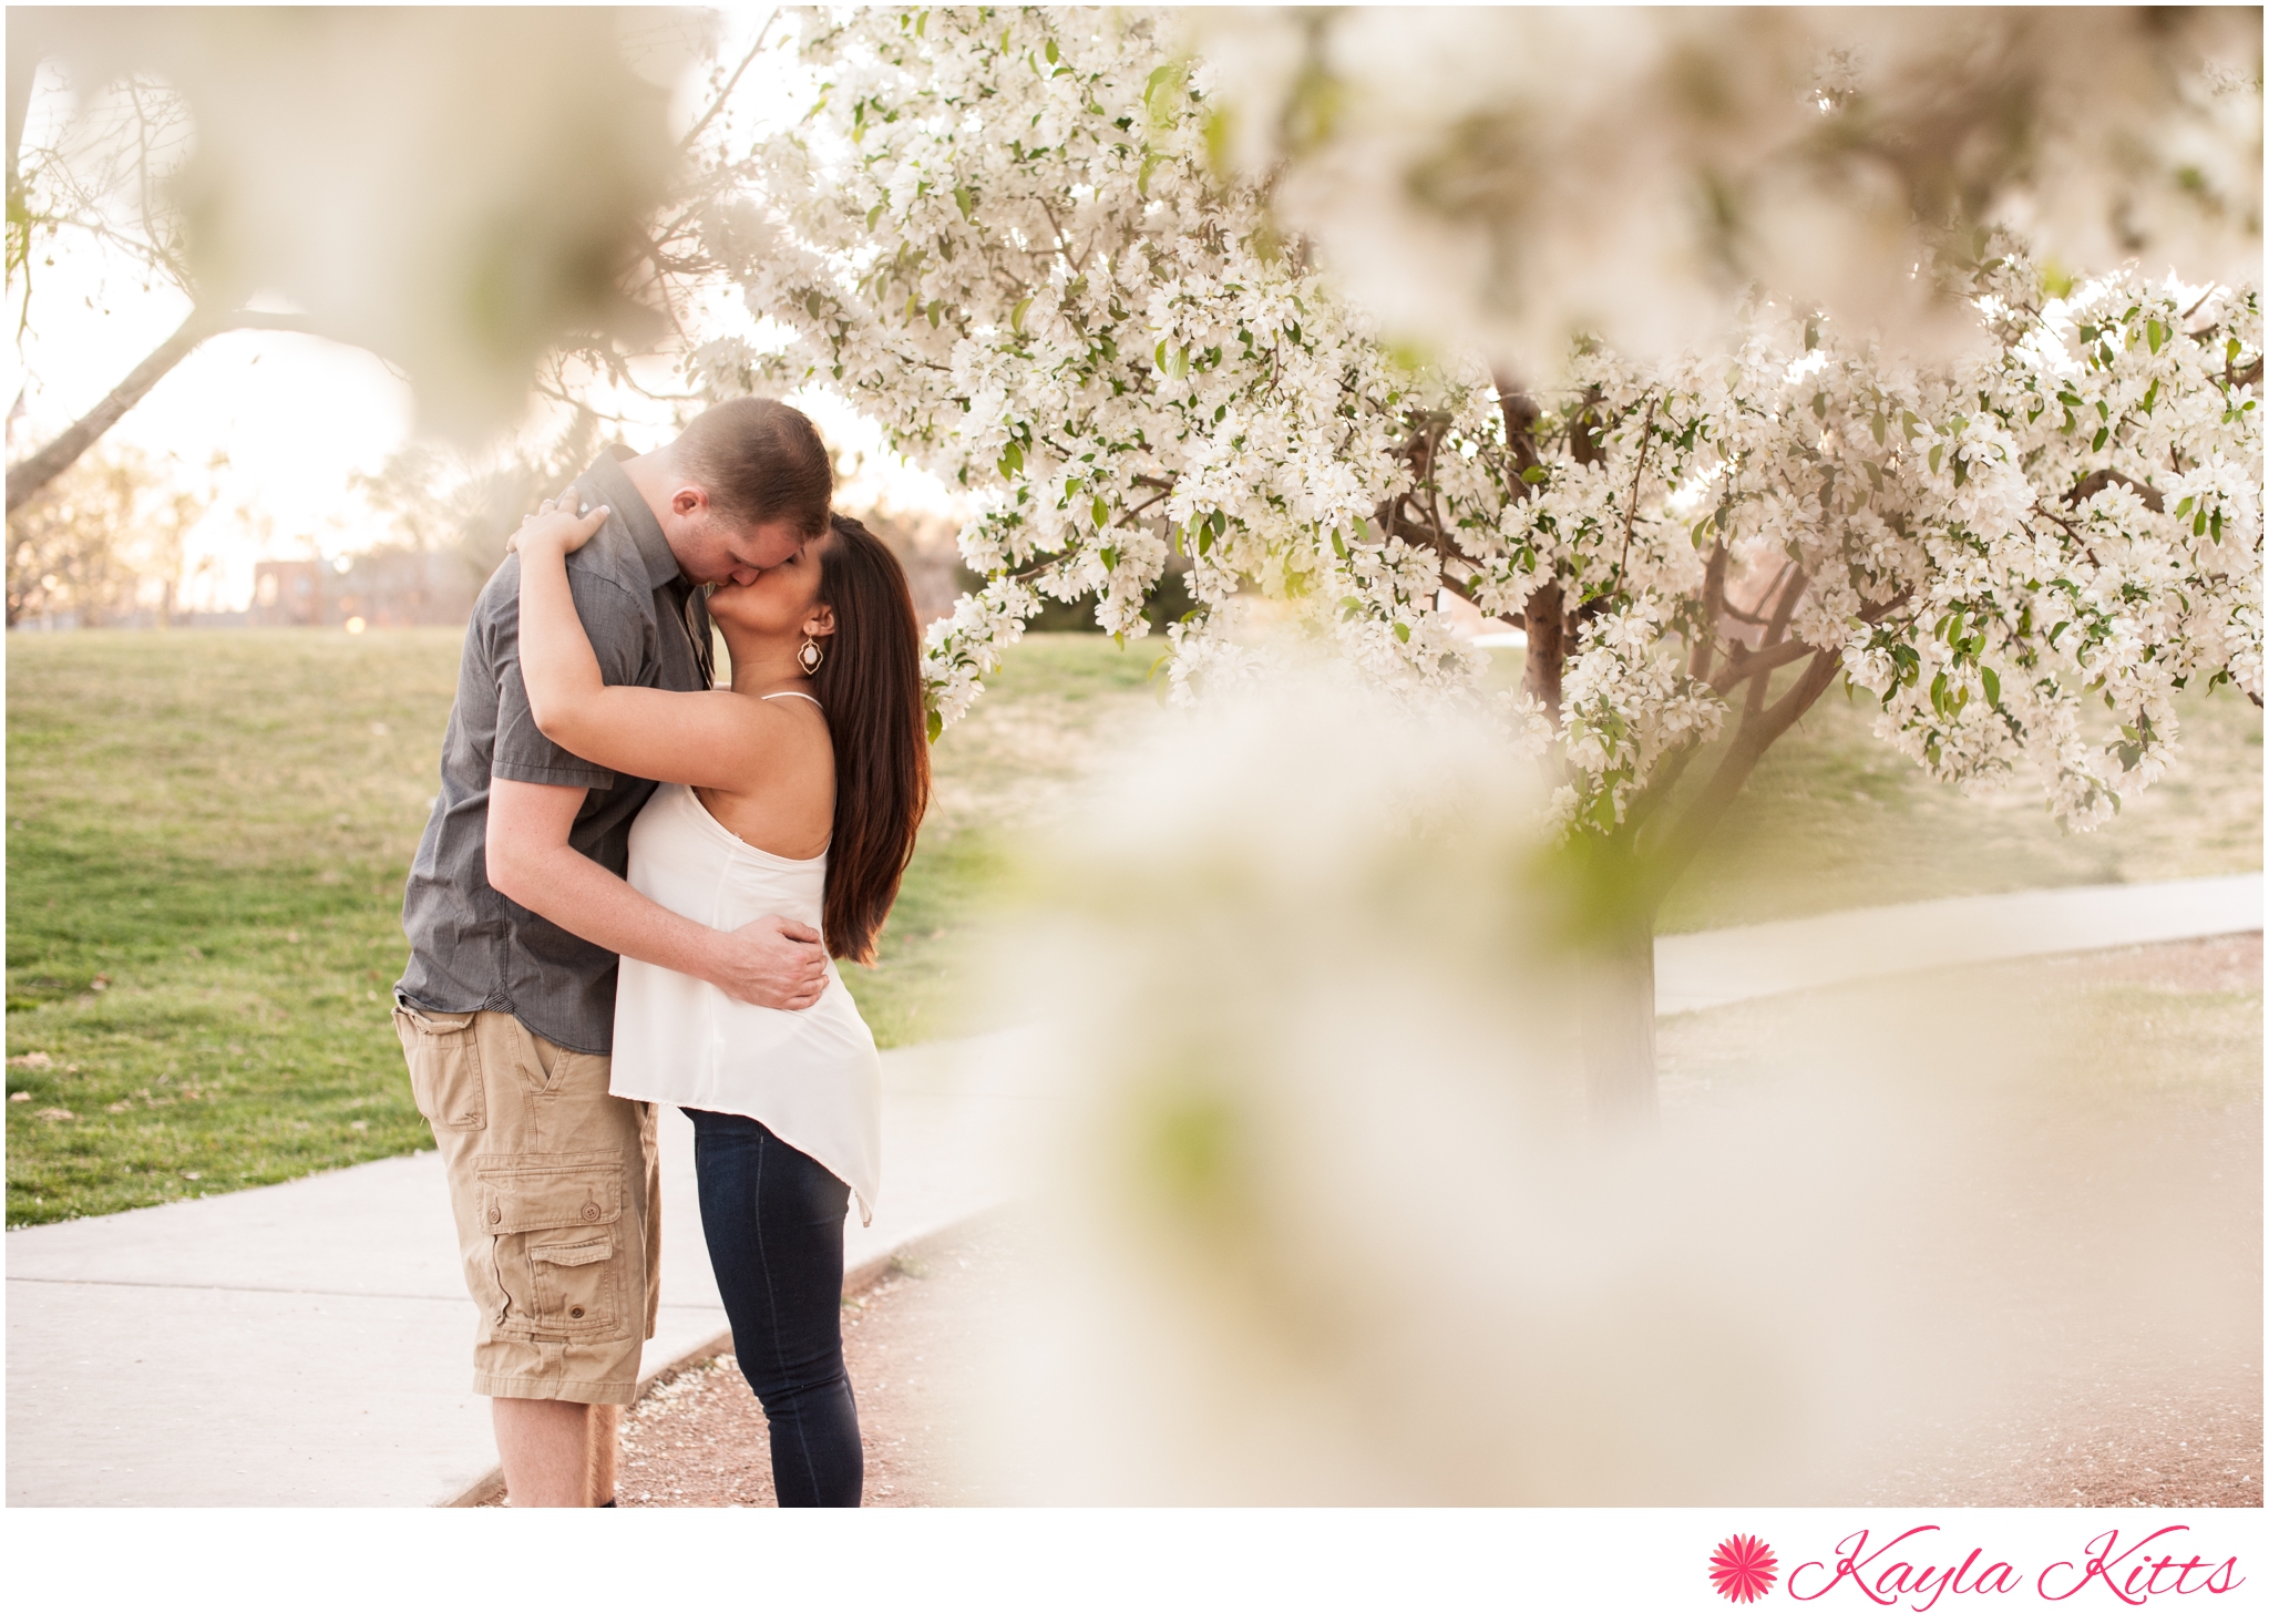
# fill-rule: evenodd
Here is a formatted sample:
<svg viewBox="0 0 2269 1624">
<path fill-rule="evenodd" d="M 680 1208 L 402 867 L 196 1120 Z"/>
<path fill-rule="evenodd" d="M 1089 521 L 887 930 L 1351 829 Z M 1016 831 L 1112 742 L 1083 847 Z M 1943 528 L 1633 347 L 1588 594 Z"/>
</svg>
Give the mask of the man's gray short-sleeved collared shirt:
<svg viewBox="0 0 2269 1624">
<path fill-rule="evenodd" d="M 576 615 L 610 685 L 708 687 L 708 615 L 663 540 L 631 476 L 601 456 L 576 481 L 583 501 L 610 508 L 599 533 L 567 558 Z M 440 746 L 440 798 L 417 841 L 402 930 L 411 962 L 395 996 L 429 1012 L 504 1009 L 563 1048 L 606 1055 L 615 1046 L 617 959 L 488 885 L 488 785 L 585 789 L 567 844 L 626 873 L 631 819 L 653 780 L 631 778 L 563 751 L 535 728 L 520 680 L 520 556 L 481 590 L 465 628 L 456 705 Z"/>
</svg>

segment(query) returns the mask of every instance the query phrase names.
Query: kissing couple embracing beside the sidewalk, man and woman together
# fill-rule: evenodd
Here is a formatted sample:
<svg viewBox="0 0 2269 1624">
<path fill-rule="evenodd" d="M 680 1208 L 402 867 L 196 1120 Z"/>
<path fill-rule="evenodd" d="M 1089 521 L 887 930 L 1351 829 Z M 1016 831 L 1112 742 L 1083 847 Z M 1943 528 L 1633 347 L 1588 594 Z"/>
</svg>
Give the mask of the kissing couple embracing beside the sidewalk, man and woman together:
<svg viewBox="0 0 2269 1624">
<path fill-rule="evenodd" d="M 844 1218 L 880 1061 L 833 959 L 874 962 L 930 764 L 905 572 L 830 497 L 803 413 L 712 406 L 529 515 L 465 628 L 395 1027 L 515 1506 L 615 1504 L 665 1105 L 778 1499 L 860 1504 Z"/>
</svg>

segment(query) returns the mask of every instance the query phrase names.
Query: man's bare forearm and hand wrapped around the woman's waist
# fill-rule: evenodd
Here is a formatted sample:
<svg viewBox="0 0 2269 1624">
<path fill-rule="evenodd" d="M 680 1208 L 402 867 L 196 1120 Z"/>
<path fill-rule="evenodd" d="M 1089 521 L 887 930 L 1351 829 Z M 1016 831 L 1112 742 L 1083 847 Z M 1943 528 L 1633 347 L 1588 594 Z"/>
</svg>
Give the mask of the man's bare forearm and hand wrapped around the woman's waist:
<svg viewBox="0 0 2269 1624">
<path fill-rule="evenodd" d="M 488 882 L 531 914 L 626 959 L 694 975 L 767 1009 L 808 1009 L 828 984 L 819 932 L 792 919 L 710 930 L 672 914 L 567 844 L 581 785 L 488 785 Z"/>
</svg>

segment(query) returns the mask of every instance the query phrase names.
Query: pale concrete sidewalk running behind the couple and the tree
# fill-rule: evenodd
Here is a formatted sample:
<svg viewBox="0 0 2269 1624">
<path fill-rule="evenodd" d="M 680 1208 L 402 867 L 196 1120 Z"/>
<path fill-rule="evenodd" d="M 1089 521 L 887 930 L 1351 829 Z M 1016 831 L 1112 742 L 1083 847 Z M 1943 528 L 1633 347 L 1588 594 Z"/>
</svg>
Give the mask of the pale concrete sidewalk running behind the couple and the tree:
<svg viewBox="0 0 2269 1624">
<path fill-rule="evenodd" d="M 2262 928 L 2262 876 L 1872 907 L 1663 937 L 1675 1014 L 1870 975 Z M 885 1189 L 849 1266 L 1017 1195 L 1048 1100 L 1010 1091 L 1026 1034 L 883 1057 Z M 663 1116 L 663 1316 L 647 1372 L 724 1311 L 692 1127 Z M 472 1304 L 431 1152 L 7 1236 L 7 1504 L 433 1506 L 495 1470 L 467 1386 Z"/>
</svg>

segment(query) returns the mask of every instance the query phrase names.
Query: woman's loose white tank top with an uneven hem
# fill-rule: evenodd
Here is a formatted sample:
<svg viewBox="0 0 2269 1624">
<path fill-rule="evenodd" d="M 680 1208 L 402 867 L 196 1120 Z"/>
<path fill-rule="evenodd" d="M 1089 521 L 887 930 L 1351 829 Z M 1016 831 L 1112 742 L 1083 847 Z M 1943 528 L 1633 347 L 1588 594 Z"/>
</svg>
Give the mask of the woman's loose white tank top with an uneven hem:
<svg viewBox="0 0 2269 1624">
<path fill-rule="evenodd" d="M 631 823 L 631 885 L 715 930 L 765 914 L 819 928 L 826 876 L 826 853 L 794 860 L 749 846 L 685 785 L 656 789 Z M 883 1061 L 835 964 L 810 1009 L 762 1009 L 692 975 L 624 959 L 610 1093 L 753 1116 L 849 1184 L 860 1218 L 874 1223 Z"/>
</svg>

